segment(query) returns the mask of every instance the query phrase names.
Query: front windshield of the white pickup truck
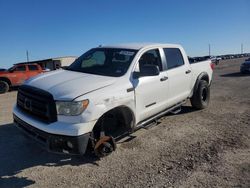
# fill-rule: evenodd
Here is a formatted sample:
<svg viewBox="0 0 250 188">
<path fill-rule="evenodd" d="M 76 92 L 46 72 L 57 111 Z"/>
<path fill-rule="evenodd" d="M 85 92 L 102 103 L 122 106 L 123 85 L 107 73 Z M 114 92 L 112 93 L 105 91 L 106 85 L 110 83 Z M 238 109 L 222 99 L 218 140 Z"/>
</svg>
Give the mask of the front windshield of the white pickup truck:
<svg viewBox="0 0 250 188">
<path fill-rule="evenodd" d="M 137 50 L 94 48 L 76 59 L 67 70 L 103 76 L 123 76 Z"/>
</svg>

